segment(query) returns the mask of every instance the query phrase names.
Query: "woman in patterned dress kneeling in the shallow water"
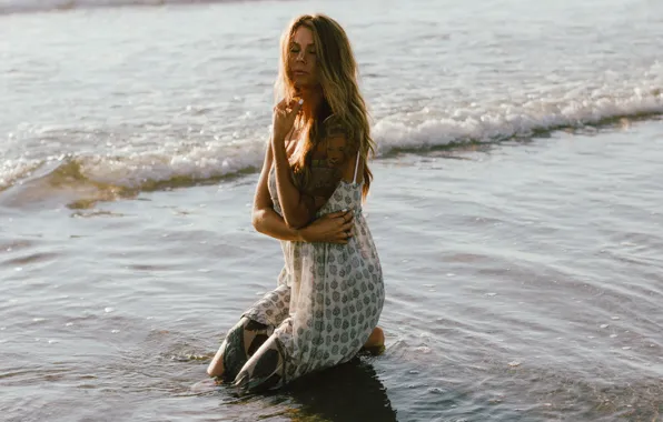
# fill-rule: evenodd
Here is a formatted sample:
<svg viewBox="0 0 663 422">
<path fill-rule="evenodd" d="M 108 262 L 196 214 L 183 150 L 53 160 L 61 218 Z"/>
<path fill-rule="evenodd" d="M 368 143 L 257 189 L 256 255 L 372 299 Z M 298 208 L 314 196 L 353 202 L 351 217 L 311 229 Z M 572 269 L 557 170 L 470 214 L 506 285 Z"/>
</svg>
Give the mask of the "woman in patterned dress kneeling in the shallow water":
<svg viewBox="0 0 663 422">
<path fill-rule="evenodd" d="M 374 152 L 356 62 L 333 19 L 301 16 L 281 38 L 273 133 L 256 230 L 281 240 L 278 287 L 224 340 L 210 376 L 255 391 L 382 346 L 383 275 L 362 214 Z"/>
</svg>

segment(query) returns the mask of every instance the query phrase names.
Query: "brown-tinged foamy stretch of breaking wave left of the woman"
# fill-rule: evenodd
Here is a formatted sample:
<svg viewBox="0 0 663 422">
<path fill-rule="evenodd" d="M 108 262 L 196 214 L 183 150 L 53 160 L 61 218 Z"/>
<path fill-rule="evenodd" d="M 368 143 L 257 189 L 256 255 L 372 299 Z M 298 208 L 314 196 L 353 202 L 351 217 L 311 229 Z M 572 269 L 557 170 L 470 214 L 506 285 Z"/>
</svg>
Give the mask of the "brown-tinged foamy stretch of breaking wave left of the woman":
<svg viewBox="0 0 663 422">
<path fill-rule="evenodd" d="M 55 201 L 88 209 L 99 201 L 135 198 L 144 191 L 215 183 L 258 171 L 264 145 L 254 142 L 194 148 L 186 153 L 8 160 L 0 167 L 0 204 L 23 208 Z"/>
</svg>

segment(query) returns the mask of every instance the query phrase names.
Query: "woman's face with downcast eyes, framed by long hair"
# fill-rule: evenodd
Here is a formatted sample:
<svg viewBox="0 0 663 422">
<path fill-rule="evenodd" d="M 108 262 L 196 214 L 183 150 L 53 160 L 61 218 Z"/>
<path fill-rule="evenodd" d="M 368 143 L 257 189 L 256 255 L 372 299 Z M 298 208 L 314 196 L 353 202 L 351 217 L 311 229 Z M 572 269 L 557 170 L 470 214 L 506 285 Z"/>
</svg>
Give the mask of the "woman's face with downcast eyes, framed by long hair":
<svg viewBox="0 0 663 422">
<path fill-rule="evenodd" d="M 318 84 L 316 46 L 313 32 L 299 27 L 288 48 L 288 77 L 295 88 L 310 88 Z"/>
</svg>

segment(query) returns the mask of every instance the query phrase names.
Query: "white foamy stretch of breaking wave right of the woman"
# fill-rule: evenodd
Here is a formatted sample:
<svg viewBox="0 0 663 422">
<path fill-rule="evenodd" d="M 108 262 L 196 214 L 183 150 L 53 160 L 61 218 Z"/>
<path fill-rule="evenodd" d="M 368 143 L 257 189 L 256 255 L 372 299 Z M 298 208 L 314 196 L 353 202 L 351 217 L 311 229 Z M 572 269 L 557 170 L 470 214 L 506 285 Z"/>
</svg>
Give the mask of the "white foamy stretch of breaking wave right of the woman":
<svg viewBox="0 0 663 422">
<path fill-rule="evenodd" d="M 581 99 L 541 98 L 522 104 L 486 104 L 456 109 L 436 118 L 431 110 L 392 115 L 377 122 L 373 137 L 382 154 L 394 149 L 425 149 L 467 141 L 492 142 L 530 137 L 556 128 L 577 128 L 621 117 L 663 113 L 656 88 L 633 88 L 625 94 L 595 92 Z"/>
</svg>

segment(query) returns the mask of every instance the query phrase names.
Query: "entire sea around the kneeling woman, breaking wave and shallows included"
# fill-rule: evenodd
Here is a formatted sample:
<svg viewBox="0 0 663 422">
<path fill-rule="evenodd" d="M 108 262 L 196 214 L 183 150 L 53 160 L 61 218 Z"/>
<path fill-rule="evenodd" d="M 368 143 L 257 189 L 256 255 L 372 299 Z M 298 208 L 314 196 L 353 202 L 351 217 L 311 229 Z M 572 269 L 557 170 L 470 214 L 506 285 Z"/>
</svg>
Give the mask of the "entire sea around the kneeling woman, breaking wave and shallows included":
<svg viewBox="0 0 663 422">
<path fill-rule="evenodd" d="M 0 17 L 7 420 L 662 420 L 659 4 L 345 6 Z M 250 202 L 311 8 L 374 111 L 387 350 L 237 398 L 205 369 L 283 263 Z"/>
</svg>

